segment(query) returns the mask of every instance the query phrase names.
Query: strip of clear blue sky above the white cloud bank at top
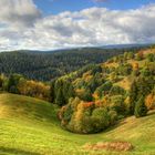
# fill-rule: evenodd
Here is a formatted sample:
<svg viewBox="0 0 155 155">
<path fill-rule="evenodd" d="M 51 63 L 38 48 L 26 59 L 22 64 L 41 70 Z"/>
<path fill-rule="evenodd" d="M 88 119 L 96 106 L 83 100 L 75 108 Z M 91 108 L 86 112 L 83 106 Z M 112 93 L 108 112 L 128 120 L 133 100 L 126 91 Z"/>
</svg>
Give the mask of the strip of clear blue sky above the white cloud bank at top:
<svg viewBox="0 0 155 155">
<path fill-rule="evenodd" d="M 79 11 L 92 7 L 104 7 L 113 10 L 136 9 L 154 3 L 155 0 L 34 0 L 39 9 L 46 14 L 56 14 L 63 11 Z"/>
</svg>

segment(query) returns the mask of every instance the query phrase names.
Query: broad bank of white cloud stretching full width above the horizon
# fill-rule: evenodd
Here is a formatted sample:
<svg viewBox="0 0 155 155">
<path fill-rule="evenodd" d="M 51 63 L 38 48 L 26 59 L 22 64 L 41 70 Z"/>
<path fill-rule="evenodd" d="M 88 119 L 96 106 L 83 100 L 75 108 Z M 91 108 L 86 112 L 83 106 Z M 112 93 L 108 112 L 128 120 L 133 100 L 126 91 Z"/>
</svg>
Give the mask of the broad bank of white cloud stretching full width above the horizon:
<svg viewBox="0 0 155 155">
<path fill-rule="evenodd" d="M 19 20 L 14 18 L 13 13 L 12 20 L 9 18 L 4 20 L 3 18 L 3 21 L 7 21 L 8 24 L 0 25 L 1 50 L 3 50 L 4 46 L 6 50 L 50 50 L 71 46 L 145 43 L 155 41 L 155 4 L 125 11 L 107 10 L 106 8 L 90 8 L 76 12 L 66 11 L 40 19 L 38 16 L 32 16 L 34 18 L 32 18 L 32 20 L 30 20 L 30 18 L 29 21 L 25 20 L 27 18 L 24 19 L 24 13 L 27 14 L 27 12 L 29 12 L 33 14 L 31 12 L 40 11 L 31 0 L 27 2 L 31 11 L 22 12 Z M 14 8 L 18 8 L 16 10 L 21 10 L 20 7 Z M 9 17 L 11 17 L 11 13 L 9 13 Z M 0 21 L 1 19 L 0 14 Z M 17 24 L 16 28 L 10 27 L 14 19 L 16 22 L 23 23 L 27 27 L 22 30 L 19 29 L 19 24 Z M 32 23 L 33 27 L 30 27 Z"/>
</svg>

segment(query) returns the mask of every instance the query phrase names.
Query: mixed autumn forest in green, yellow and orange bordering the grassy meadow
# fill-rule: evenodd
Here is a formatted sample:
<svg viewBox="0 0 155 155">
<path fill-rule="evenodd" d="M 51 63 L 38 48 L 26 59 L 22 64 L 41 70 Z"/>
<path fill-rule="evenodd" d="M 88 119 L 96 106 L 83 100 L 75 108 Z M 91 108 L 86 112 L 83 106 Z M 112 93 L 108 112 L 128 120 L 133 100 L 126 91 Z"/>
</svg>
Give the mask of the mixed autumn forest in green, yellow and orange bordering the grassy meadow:
<svg viewBox="0 0 155 155">
<path fill-rule="evenodd" d="M 0 89 L 56 104 L 65 130 L 97 133 L 128 115 L 142 117 L 155 108 L 155 48 L 86 65 L 50 84 L 1 74 Z"/>
</svg>

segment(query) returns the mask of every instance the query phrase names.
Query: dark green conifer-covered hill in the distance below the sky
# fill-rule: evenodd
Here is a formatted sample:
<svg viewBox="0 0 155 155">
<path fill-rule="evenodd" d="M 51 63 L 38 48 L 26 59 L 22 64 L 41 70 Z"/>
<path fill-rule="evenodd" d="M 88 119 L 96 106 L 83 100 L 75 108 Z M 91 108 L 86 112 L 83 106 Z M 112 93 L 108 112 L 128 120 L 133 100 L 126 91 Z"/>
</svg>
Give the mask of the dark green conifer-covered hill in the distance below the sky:
<svg viewBox="0 0 155 155">
<path fill-rule="evenodd" d="M 140 48 L 138 48 L 140 49 Z M 0 53 L 0 73 L 23 74 L 28 79 L 50 81 L 91 63 L 101 63 L 127 49 L 83 48 L 55 52 L 13 51 Z"/>
</svg>

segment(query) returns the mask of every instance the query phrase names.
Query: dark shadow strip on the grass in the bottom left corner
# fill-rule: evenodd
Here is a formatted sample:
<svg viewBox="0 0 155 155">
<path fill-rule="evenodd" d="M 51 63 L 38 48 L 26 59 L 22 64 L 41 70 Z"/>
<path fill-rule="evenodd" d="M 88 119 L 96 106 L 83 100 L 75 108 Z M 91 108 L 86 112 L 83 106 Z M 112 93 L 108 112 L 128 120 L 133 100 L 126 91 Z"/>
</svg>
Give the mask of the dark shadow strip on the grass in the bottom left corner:
<svg viewBox="0 0 155 155">
<path fill-rule="evenodd" d="M 14 155 L 40 155 L 39 153 L 22 151 L 18 148 L 0 146 L 0 154 L 14 154 Z"/>
</svg>

